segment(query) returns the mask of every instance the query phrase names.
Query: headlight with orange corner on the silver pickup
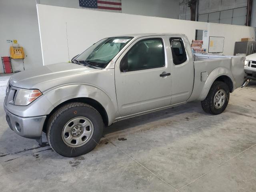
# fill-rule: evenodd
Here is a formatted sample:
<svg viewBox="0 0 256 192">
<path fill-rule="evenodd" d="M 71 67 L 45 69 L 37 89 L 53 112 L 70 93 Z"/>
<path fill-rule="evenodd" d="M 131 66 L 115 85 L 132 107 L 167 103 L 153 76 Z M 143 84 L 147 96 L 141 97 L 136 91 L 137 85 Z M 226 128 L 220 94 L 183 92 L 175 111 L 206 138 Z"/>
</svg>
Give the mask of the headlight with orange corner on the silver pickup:
<svg viewBox="0 0 256 192">
<path fill-rule="evenodd" d="M 40 97 L 42 93 L 38 89 L 20 89 L 16 96 L 14 105 L 26 106 Z"/>
</svg>

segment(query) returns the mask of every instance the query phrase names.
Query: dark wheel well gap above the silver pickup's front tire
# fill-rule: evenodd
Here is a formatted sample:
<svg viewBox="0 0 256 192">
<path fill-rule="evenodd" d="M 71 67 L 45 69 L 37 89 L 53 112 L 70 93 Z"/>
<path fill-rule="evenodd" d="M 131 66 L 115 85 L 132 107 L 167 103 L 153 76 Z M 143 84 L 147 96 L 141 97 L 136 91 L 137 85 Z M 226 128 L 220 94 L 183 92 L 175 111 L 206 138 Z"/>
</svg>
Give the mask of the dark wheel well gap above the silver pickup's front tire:
<svg viewBox="0 0 256 192">
<path fill-rule="evenodd" d="M 103 119 L 103 122 L 104 122 L 105 126 L 108 126 L 108 114 L 107 114 L 106 110 L 104 109 L 104 107 L 98 101 L 96 101 L 92 98 L 80 97 L 80 98 L 73 98 L 73 99 L 67 100 L 67 101 L 59 104 L 58 106 L 56 106 L 50 112 L 50 114 L 47 115 L 46 120 L 44 122 L 43 132 L 46 132 L 46 128 L 47 128 L 47 124 L 48 124 L 48 120 L 49 120 L 50 116 L 52 116 L 52 114 L 54 112 L 56 112 L 56 110 L 58 110 L 59 108 L 61 108 L 62 106 L 64 106 L 65 104 L 68 104 L 70 102 L 83 102 L 83 103 L 86 103 L 86 104 L 92 106 L 102 116 L 102 119 Z"/>
</svg>

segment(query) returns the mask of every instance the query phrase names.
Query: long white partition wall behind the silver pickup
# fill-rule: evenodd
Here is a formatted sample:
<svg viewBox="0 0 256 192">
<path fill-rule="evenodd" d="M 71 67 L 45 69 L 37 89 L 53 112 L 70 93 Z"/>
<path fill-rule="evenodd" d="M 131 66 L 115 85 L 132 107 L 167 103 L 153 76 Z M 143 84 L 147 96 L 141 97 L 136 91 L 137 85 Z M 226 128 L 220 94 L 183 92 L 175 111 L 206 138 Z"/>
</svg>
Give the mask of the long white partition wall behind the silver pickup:
<svg viewBox="0 0 256 192">
<path fill-rule="evenodd" d="M 68 48 L 71 59 L 98 40 L 116 35 L 184 33 L 191 42 L 195 38 L 196 29 L 208 30 L 211 36 L 225 37 L 223 54 L 226 55 L 233 54 L 234 42 L 239 41 L 240 38 L 255 38 L 254 28 L 244 26 L 98 12 L 42 4 L 38 4 L 38 18 L 45 65 L 67 62 Z"/>
</svg>

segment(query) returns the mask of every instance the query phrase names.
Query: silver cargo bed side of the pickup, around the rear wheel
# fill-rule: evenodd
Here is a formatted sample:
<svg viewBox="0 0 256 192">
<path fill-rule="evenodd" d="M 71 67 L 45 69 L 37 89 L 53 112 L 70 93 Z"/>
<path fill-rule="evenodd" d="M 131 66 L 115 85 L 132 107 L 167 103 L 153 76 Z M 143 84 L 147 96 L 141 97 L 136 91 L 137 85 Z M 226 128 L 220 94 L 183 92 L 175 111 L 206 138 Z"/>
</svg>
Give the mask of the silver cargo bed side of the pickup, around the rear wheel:
<svg viewBox="0 0 256 192">
<path fill-rule="evenodd" d="M 194 54 L 194 89 L 190 100 L 204 100 L 206 92 L 210 90 L 211 83 L 218 78 L 219 74 L 225 74 L 234 83 L 234 89 L 242 86 L 245 80 L 243 56 L 220 56 Z M 202 79 L 202 75 L 206 79 Z"/>
</svg>

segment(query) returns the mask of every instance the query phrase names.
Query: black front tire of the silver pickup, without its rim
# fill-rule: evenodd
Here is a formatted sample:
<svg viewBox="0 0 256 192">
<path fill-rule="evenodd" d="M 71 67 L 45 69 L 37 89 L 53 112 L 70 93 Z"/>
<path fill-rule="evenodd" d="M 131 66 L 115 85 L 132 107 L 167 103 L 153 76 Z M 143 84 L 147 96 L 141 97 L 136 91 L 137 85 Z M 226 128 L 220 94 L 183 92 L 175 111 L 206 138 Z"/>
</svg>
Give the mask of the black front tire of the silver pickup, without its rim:
<svg viewBox="0 0 256 192">
<path fill-rule="evenodd" d="M 76 117 L 85 117 L 93 124 L 90 140 L 82 146 L 68 146 L 62 139 L 64 126 Z M 104 123 L 99 112 L 92 106 L 82 102 L 72 102 L 58 109 L 48 121 L 47 138 L 52 149 L 65 157 L 76 157 L 93 150 L 102 137 Z"/>
</svg>

